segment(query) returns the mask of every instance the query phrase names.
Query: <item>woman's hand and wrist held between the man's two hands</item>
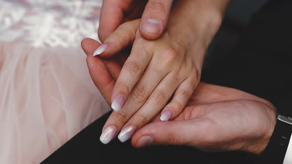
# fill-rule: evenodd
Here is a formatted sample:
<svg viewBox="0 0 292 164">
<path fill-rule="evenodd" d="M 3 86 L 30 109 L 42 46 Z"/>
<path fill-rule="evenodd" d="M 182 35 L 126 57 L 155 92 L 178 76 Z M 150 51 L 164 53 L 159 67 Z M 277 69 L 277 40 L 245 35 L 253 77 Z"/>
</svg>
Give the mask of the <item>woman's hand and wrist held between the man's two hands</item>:
<svg viewBox="0 0 292 164">
<path fill-rule="evenodd" d="M 138 130 L 161 110 L 162 114 L 172 111 L 170 119 L 182 112 L 198 85 L 205 51 L 220 27 L 227 5 L 212 2 L 175 1 L 168 26 L 155 41 L 142 37 L 139 19 L 120 25 L 109 35 L 104 41 L 108 48 L 100 57 L 107 60 L 109 72 L 121 68 L 119 73 L 113 73 L 117 79 L 109 103 L 120 95 L 125 103 L 111 114 L 104 128 L 115 126 L 119 132 L 134 125 Z M 129 56 L 127 52 L 119 53 L 132 43 Z"/>
</svg>

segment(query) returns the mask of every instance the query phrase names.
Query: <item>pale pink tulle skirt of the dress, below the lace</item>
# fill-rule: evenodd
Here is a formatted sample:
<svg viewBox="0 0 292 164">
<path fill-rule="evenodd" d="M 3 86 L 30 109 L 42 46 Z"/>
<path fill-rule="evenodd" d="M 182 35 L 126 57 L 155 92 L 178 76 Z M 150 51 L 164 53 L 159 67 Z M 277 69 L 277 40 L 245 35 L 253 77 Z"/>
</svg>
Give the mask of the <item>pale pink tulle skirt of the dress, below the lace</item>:
<svg viewBox="0 0 292 164">
<path fill-rule="evenodd" d="M 0 164 L 40 163 L 107 111 L 81 48 L 0 43 Z"/>
</svg>

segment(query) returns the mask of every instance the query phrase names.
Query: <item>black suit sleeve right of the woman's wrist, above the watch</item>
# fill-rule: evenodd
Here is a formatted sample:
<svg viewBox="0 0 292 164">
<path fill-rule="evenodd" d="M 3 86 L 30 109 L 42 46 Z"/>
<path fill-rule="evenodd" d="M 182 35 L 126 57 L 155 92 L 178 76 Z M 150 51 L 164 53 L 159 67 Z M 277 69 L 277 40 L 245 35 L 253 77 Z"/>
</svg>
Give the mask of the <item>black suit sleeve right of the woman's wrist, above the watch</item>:
<svg viewBox="0 0 292 164">
<path fill-rule="evenodd" d="M 273 0 L 256 13 L 234 51 L 203 70 L 202 81 L 233 87 L 292 115 L 292 0 Z"/>
</svg>

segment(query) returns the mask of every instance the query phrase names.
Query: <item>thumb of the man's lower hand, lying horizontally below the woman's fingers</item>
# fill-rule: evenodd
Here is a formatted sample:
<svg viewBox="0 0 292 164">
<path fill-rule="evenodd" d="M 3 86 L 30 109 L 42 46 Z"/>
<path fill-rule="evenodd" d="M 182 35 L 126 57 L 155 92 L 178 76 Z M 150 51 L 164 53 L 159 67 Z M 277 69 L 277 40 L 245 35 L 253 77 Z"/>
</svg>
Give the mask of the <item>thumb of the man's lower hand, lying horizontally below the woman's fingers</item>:
<svg viewBox="0 0 292 164">
<path fill-rule="evenodd" d="M 192 120 L 149 123 L 135 133 L 132 144 L 135 147 L 150 144 L 193 146 L 192 143 L 201 137 L 200 129 Z"/>
</svg>

